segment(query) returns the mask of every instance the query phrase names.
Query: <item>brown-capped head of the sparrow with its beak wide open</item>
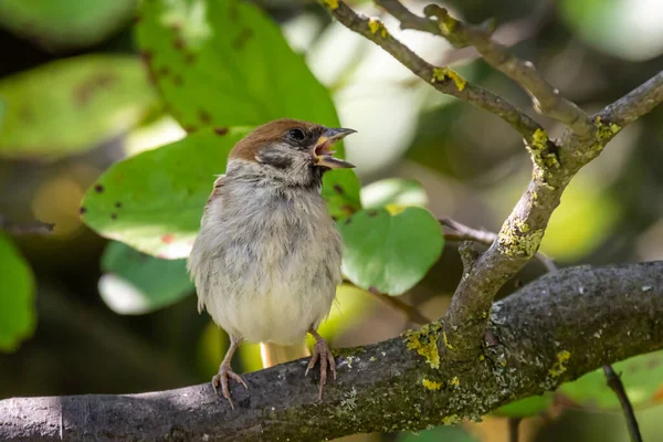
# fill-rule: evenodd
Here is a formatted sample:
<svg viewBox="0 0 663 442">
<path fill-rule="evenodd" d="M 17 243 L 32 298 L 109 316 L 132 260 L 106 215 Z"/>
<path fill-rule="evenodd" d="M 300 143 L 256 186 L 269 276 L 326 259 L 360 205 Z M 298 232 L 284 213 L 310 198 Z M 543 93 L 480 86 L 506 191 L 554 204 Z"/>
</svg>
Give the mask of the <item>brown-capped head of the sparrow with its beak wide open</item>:
<svg viewBox="0 0 663 442">
<path fill-rule="evenodd" d="M 355 167 L 333 150 L 335 143 L 355 131 L 297 119 L 270 122 L 233 147 L 228 173 L 254 172 L 288 186 L 319 185 L 325 171 Z"/>
</svg>

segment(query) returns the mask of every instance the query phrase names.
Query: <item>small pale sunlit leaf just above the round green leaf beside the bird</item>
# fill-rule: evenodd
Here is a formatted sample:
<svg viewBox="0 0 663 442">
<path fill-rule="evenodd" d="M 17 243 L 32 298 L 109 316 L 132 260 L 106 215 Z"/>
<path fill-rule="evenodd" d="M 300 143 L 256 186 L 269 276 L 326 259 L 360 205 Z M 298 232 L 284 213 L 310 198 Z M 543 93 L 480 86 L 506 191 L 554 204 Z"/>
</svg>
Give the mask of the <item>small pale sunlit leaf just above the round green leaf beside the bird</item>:
<svg viewBox="0 0 663 442">
<path fill-rule="evenodd" d="M 372 182 L 361 189 L 361 202 L 365 209 L 378 209 L 385 206 L 419 206 L 428 203 L 423 186 L 412 179 L 388 178 Z"/>
</svg>

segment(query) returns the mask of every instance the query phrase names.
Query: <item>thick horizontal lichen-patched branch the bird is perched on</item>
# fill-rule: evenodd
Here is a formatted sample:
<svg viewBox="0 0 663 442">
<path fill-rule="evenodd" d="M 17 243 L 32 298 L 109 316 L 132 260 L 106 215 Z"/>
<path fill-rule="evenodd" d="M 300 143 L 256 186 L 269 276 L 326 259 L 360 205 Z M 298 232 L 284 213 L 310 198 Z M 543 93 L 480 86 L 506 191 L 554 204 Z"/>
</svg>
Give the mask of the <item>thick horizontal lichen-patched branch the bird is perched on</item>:
<svg viewBox="0 0 663 442">
<path fill-rule="evenodd" d="M 490 323 L 496 344 L 469 364 L 438 359 L 443 339 L 433 323 L 406 338 L 341 351 L 338 380 L 322 402 L 317 379 L 304 378 L 306 361 L 297 360 L 245 375 L 249 390 L 233 389 L 234 410 L 209 383 L 7 399 L 0 440 L 318 441 L 477 419 L 604 364 L 663 348 L 662 317 L 663 262 L 568 269 L 496 303 Z"/>
</svg>

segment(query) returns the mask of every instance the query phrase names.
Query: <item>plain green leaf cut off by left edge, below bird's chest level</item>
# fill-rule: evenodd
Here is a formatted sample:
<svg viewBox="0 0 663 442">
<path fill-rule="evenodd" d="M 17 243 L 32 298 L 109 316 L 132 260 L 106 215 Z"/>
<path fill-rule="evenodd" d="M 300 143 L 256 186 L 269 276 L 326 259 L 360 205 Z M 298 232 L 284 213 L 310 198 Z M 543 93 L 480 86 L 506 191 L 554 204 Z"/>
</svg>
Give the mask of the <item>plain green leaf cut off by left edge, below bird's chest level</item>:
<svg viewBox="0 0 663 442">
<path fill-rule="evenodd" d="M 0 231 L 0 351 L 15 351 L 34 332 L 34 288 L 28 262 Z"/>
</svg>

